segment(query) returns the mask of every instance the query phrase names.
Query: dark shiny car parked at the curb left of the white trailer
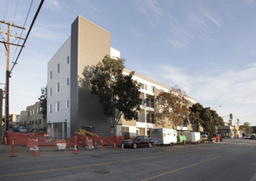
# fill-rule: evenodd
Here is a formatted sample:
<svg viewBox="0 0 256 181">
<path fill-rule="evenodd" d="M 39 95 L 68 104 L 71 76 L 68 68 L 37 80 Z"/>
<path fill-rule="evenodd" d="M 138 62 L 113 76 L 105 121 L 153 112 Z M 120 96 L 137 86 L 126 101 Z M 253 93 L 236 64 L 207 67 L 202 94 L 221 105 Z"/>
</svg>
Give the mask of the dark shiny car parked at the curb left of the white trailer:
<svg viewBox="0 0 256 181">
<path fill-rule="evenodd" d="M 146 136 L 137 136 L 132 140 L 123 140 L 122 144 L 124 144 L 125 147 L 133 147 L 134 149 L 138 146 L 148 146 L 150 148 L 153 146 L 154 141 Z"/>
</svg>

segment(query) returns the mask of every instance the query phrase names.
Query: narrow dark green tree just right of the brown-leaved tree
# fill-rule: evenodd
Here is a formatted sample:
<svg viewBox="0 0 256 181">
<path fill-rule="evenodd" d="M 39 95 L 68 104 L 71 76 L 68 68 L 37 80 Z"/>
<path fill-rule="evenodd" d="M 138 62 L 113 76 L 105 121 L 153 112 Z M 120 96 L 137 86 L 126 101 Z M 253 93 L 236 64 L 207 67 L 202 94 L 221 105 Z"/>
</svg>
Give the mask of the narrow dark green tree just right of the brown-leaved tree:
<svg viewBox="0 0 256 181">
<path fill-rule="evenodd" d="M 190 114 L 189 114 L 190 123 L 192 123 L 196 126 L 196 128 L 197 128 L 196 131 L 198 132 L 200 126 L 203 123 L 201 114 L 202 114 L 202 110 L 204 108 L 201 104 L 197 103 L 197 104 L 193 104 L 192 107 L 190 107 L 189 109 L 190 109 Z"/>
</svg>

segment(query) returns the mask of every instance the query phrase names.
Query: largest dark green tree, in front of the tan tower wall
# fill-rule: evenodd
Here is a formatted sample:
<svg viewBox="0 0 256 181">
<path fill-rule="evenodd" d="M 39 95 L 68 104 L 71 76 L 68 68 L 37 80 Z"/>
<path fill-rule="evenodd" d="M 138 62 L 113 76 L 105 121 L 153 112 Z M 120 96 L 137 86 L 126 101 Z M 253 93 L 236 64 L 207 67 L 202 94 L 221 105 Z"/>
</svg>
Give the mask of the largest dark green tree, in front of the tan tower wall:
<svg viewBox="0 0 256 181">
<path fill-rule="evenodd" d="M 132 80 L 132 74 L 123 75 L 125 60 L 105 56 L 97 63 L 92 73 L 90 86 L 92 94 L 99 96 L 104 114 L 111 118 L 111 125 L 116 135 L 116 124 L 121 116 L 127 121 L 138 119 L 140 109 L 140 86 Z"/>
</svg>

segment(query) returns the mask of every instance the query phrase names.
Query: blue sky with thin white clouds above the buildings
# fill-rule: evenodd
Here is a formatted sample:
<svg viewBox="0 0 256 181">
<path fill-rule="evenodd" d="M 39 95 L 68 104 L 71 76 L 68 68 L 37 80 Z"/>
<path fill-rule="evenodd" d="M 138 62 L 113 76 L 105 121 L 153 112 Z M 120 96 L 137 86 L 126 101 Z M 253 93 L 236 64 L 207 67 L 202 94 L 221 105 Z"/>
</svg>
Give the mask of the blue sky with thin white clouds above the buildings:
<svg viewBox="0 0 256 181">
<path fill-rule="evenodd" d="M 30 3 L 1 0 L 0 20 L 23 26 Z M 39 3 L 31 6 L 23 37 Z M 204 107 L 221 105 L 220 116 L 232 113 L 239 124 L 256 125 L 255 0 L 46 0 L 13 69 L 10 113 L 35 104 L 46 85 L 47 63 L 69 38 L 78 15 L 111 32 L 111 46 L 121 51 L 128 69 L 178 85 Z M 5 68 L 0 44 L 1 83 Z"/>
</svg>

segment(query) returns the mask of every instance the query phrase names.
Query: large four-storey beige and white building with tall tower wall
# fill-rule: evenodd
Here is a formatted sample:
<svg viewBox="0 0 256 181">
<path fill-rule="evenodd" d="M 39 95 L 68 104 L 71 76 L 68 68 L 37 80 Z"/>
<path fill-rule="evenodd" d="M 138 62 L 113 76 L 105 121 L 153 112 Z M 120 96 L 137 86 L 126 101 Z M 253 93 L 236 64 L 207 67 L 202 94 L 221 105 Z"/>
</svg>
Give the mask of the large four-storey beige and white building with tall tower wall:
<svg viewBox="0 0 256 181">
<path fill-rule="evenodd" d="M 92 126 L 100 137 L 113 134 L 110 118 L 103 114 L 97 95 L 92 95 L 85 68 L 102 61 L 105 55 L 120 57 L 120 52 L 111 48 L 111 34 L 107 30 L 78 16 L 71 26 L 71 36 L 61 46 L 47 67 L 47 131 L 51 137 L 70 137 L 82 126 Z M 124 74 L 130 70 L 125 69 Z M 154 123 L 154 99 L 160 91 L 170 88 L 135 72 L 133 77 L 141 83 L 139 120 L 121 118 L 116 135 L 148 135 Z M 82 84 L 82 81 L 84 84 Z M 196 100 L 188 97 L 192 104 Z M 172 128 L 169 123 L 166 128 Z M 192 130 L 191 125 L 180 125 L 180 130 Z"/>
</svg>

